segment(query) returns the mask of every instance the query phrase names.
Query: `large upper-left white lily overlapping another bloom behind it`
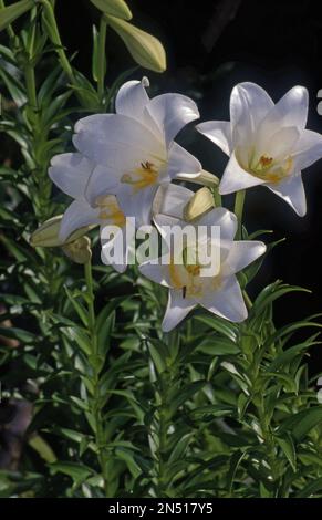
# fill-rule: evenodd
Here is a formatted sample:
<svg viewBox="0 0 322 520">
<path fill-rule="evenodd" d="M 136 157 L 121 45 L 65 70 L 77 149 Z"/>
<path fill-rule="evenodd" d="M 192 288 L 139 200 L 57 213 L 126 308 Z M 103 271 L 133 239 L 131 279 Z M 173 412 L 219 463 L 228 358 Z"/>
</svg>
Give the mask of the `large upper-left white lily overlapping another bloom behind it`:
<svg viewBox="0 0 322 520">
<path fill-rule="evenodd" d="M 149 100 L 142 82 L 129 81 L 116 96 L 116 114 L 97 114 L 77 122 L 75 147 L 97 166 L 89 179 L 85 198 L 95 206 L 114 194 L 137 227 L 147 225 L 160 185 L 177 174 L 196 176 L 200 163 L 174 142 L 177 133 L 199 117 L 197 105 L 180 94 Z"/>
</svg>

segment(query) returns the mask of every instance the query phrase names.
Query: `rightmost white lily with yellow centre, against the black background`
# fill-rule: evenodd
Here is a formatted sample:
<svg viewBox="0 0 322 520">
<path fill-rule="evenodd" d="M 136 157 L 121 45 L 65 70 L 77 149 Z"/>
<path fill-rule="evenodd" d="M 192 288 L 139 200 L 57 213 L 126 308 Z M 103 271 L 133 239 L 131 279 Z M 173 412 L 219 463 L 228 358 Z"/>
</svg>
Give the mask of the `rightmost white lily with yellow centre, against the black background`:
<svg viewBox="0 0 322 520">
<path fill-rule="evenodd" d="M 232 89 L 230 122 L 209 121 L 197 129 L 230 156 L 219 193 L 264 185 L 299 216 L 307 212 L 301 170 L 322 157 L 322 136 L 305 129 L 309 95 L 294 86 L 274 104 L 255 83 Z"/>
</svg>

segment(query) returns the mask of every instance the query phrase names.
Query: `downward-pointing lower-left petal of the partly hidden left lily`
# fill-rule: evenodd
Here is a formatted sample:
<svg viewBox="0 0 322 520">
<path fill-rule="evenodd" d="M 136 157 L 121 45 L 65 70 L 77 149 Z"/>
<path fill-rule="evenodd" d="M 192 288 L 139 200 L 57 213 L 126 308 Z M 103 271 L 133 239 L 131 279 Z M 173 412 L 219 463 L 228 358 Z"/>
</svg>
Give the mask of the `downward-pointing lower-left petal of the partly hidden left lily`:
<svg viewBox="0 0 322 520">
<path fill-rule="evenodd" d="M 98 209 L 93 209 L 85 200 L 74 200 L 64 212 L 59 238 L 65 241 L 76 229 L 100 223 Z"/>
</svg>

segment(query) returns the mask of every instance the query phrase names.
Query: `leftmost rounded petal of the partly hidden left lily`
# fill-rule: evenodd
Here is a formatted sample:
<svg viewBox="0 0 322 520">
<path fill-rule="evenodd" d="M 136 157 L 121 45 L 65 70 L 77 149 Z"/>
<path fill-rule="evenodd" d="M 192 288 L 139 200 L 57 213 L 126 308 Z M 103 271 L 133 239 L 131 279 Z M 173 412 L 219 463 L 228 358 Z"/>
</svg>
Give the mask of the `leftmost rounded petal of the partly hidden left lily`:
<svg viewBox="0 0 322 520">
<path fill-rule="evenodd" d="M 49 176 L 65 194 L 80 198 L 95 165 L 82 154 L 60 154 L 51 160 Z"/>
</svg>

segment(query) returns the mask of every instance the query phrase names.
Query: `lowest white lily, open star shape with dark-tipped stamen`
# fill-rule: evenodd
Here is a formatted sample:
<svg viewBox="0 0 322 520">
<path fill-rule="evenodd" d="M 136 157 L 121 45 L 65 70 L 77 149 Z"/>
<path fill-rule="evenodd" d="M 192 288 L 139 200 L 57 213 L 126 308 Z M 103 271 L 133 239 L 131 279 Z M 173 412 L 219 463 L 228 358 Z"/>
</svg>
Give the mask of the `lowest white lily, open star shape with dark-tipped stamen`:
<svg viewBox="0 0 322 520">
<path fill-rule="evenodd" d="M 173 187 L 168 189 L 168 196 L 163 199 L 167 215 L 155 217 L 155 223 L 165 239 L 174 226 L 187 225 L 181 220 L 181 216 L 189 200 L 187 193 L 189 190 L 186 188 L 176 186 L 175 190 Z M 212 209 L 194 221 L 194 226 L 206 226 L 207 229 L 206 241 L 202 239 L 197 242 L 198 251 L 208 247 L 211 240 L 211 227 L 220 228 L 220 241 L 217 242 L 220 260 L 215 275 L 202 275 L 202 266 L 198 261 L 194 264 L 175 263 L 172 256 L 167 264 L 162 261 L 156 263 L 153 260 L 139 266 L 141 273 L 146 278 L 169 288 L 168 305 L 163 320 L 165 332 L 174 329 L 198 304 L 229 321 L 243 321 L 247 318 L 247 309 L 236 273 L 266 251 L 264 243 L 260 241 L 233 241 L 238 226 L 237 218 L 225 208 Z M 196 248 L 196 245 L 194 247 Z M 184 248 L 180 254 L 187 258 L 189 242 Z"/>
</svg>

